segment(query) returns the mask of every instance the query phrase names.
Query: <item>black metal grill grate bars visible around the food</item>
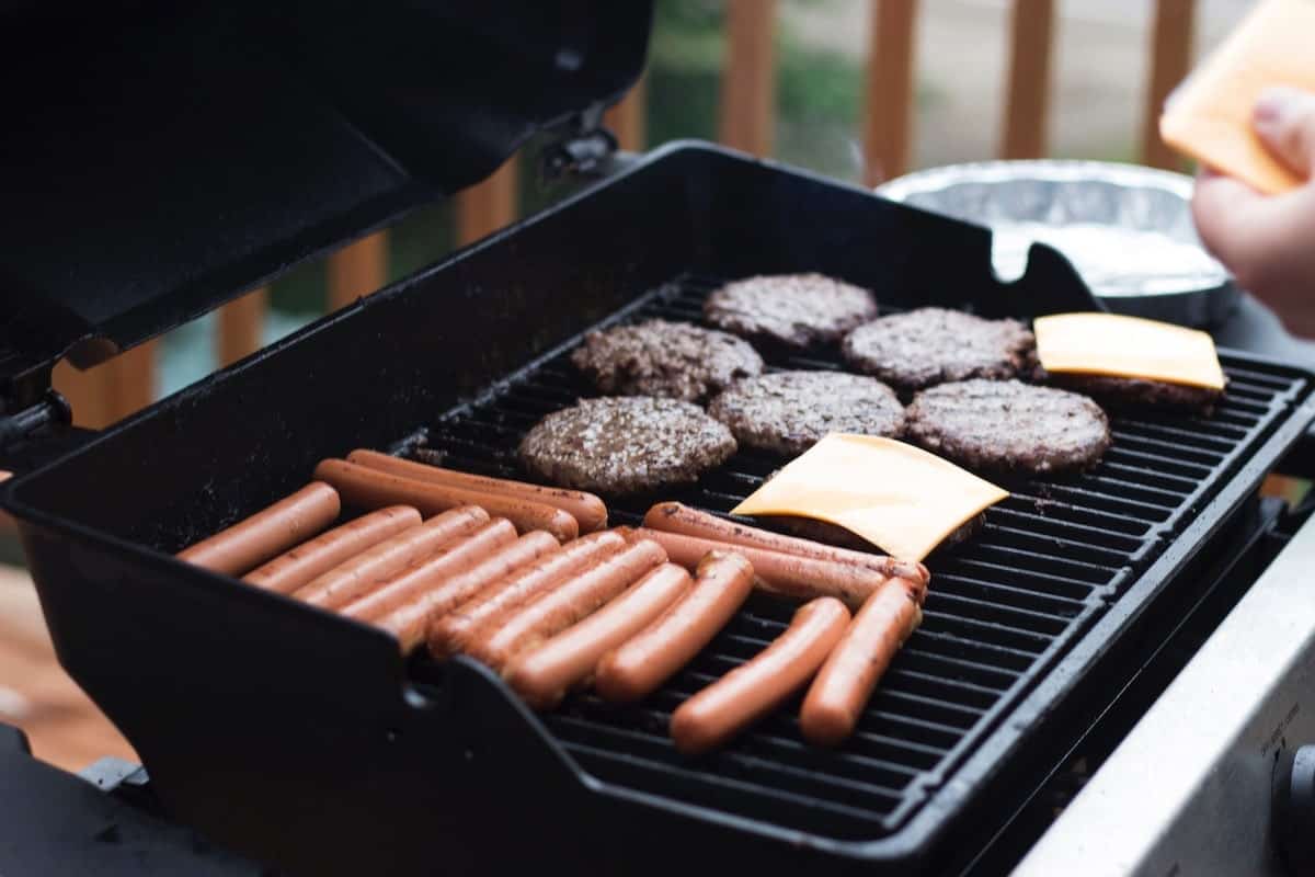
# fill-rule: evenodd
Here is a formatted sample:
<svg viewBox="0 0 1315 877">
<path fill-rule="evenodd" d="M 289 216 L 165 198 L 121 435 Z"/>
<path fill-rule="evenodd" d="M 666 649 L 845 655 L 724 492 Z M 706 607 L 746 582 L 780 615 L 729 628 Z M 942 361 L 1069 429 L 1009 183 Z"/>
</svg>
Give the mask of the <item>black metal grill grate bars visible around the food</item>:
<svg viewBox="0 0 1315 877">
<path fill-rule="evenodd" d="M 713 277 L 681 276 L 613 317 L 700 322 Z M 439 419 L 427 447 L 450 465 L 522 475 L 521 437 L 539 418 L 593 394 L 572 369 L 572 344 Z M 768 358 L 772 368 L 842 368 L 836 351 Z M 943 784 L 1019 697 L 1159 556 L 1239 459 L 1276 425 L 1301 380 L 1223 362 L 1227 397 L 1210 417 L 1162 412 L 1112 417 L 1114 444 L 1094 469 L 1009 484 L 961 546 L 927 560 L 923 623 L 871 701 L 859 731 L 835 751 L 802 742 L 798 699 L 727 749 L 697 760 L 667 736 L 672 710 L 760 651 L 792 607 L 755 597 L 660 692 L 617 707 L 589 693 L 543 717 L 600 780 L 836 839 L 896 831 Z M 781 465 L 742 451 L 692 488 L 664 493 L 726 513 Z M 654 497 L 613 500 L 613 523 L 638 523 Z"/>
</svg>

